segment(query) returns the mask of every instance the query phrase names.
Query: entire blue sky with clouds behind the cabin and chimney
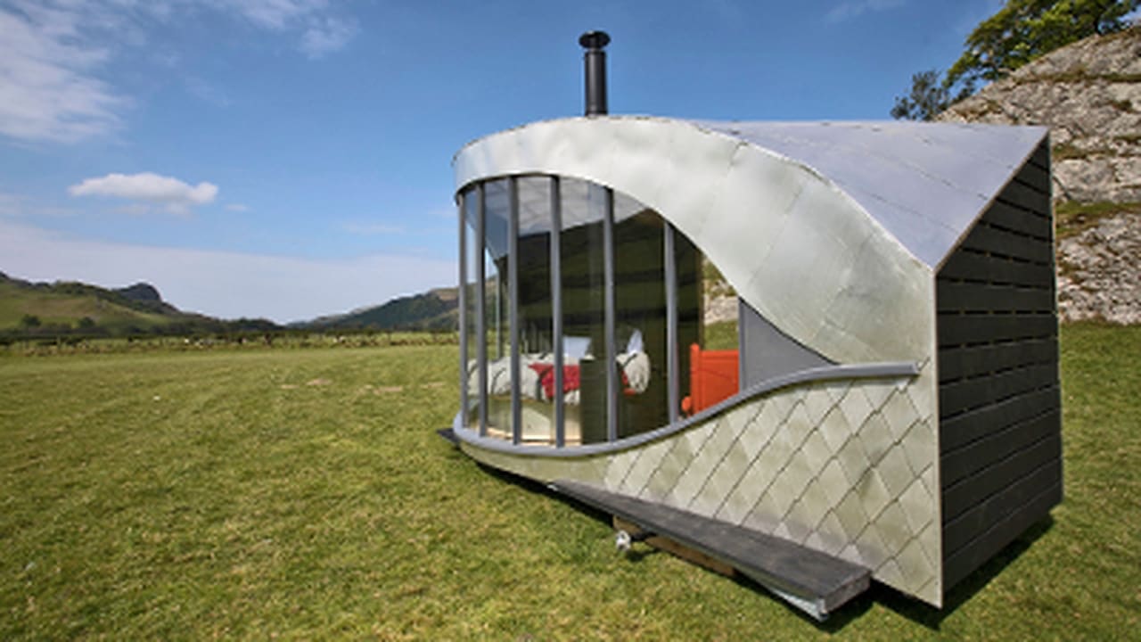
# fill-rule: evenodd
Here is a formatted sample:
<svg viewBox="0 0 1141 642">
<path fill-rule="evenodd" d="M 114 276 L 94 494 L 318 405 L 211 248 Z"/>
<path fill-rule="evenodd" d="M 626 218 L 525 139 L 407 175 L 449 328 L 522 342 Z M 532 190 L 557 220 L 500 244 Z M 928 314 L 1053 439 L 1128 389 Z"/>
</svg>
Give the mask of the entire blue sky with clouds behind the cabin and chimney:
<svg viewBox="0 0 1141 642">
<path fill-rule="evenodd" d="M 0 0 L 0 272 L 313 319 L 456 276 L 452 157 L 609 110 L 884 120 L 1001 0 Z"/>
</svg>

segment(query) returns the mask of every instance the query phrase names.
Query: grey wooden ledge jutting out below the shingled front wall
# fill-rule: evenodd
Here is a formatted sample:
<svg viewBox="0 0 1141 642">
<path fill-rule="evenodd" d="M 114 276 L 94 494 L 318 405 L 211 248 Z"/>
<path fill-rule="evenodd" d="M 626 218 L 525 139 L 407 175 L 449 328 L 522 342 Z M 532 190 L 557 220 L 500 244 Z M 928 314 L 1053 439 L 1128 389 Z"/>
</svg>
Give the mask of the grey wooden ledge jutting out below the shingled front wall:
<svg viewBox="0 0 1141 642">
<path fill-rule="evenodd" d="M 550 487 L 733 567 L 819 620 L 871 584 L 868 569 L 787 539 L 578 482 Z"/>
</svg>

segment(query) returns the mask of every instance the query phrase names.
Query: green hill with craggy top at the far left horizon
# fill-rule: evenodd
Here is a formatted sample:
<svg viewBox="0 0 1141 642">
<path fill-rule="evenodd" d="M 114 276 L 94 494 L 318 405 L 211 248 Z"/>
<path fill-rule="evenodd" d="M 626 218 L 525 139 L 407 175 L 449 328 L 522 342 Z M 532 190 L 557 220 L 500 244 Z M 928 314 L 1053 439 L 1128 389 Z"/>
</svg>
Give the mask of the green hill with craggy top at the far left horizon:
<svg viewBox="0 0 1141 642">
<path fill-rule="evenodd" d="M 264 319 L 222 321 L 181 312 L 149 283 L 107 289 L 75 281 L 33 283 L 0 272 L 0 335 L 130 336 L 270 331 Z"/>
</svg>

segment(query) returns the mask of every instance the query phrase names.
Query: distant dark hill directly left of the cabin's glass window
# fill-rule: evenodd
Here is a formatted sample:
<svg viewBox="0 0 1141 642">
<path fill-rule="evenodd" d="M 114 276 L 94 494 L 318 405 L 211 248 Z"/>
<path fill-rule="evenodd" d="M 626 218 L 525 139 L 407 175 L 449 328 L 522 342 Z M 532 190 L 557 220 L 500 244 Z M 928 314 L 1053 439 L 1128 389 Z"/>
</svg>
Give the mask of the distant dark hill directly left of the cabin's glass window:
<svg viewBox="0 0 1141 642">
<path fill-rule="evenodd" d="M 294 327 L 315 330 L 454 330 L 459 319 L 458 304 L 456 288 L 436 288 Z"/>
</svg>

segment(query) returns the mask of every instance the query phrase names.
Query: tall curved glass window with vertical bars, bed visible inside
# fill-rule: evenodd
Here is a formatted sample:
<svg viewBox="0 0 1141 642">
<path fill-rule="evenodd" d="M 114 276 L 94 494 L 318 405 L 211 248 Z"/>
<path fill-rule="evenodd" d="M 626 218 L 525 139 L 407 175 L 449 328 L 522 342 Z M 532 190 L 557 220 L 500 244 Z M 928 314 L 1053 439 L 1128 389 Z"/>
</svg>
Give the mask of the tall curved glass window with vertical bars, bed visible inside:
<svg viewBox="0 0 1141 642">
<path fill-rule="evenodd" d="M 468 186 L 460 203 L 467 430 L 569 447 L 702 409 L 710 270 L 661 215 L 602 185 L 534 175 Z"/>
</svg>

